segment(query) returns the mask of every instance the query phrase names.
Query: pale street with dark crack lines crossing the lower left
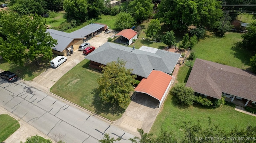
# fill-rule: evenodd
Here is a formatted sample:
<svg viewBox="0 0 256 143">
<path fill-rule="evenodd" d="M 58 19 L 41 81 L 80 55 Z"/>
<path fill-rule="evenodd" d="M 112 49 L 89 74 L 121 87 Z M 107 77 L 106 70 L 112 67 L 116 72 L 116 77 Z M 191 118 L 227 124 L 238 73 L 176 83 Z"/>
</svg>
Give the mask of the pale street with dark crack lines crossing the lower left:
<svg viewBox="0 0 256 143">
<path fill-rule="evenodd" d="M 66 143 L 98 143 L 104 133 L 130 143 L 134 135 L 59 100 L 22 80 L 0 80 L 0 106 L 48 137 L 59 135 Z"/>
</svg>

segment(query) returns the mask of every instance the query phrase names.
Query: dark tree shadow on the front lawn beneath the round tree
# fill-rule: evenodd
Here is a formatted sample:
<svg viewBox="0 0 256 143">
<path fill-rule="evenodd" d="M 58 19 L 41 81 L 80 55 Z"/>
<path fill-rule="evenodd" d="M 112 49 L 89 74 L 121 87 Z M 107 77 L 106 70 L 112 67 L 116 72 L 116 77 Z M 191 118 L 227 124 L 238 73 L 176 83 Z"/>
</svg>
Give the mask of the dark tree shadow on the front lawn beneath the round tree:
<svg viewBox="0 0 256 143">
<path fill-rule="evenodd" d="M 124 109 L 119 108 L 114 104 L 103 103 L 102 100 L 100 99 L 99 90 L 97 88 L 94 88 L 91 94 L 93 94 L 92 106 L 94 107 L 96 114 L 104 114 L 104 115 L 111 114 L 113 116 L 119 116 L 120 114 L 123 114 L 125 112 Z"/>
</svg>

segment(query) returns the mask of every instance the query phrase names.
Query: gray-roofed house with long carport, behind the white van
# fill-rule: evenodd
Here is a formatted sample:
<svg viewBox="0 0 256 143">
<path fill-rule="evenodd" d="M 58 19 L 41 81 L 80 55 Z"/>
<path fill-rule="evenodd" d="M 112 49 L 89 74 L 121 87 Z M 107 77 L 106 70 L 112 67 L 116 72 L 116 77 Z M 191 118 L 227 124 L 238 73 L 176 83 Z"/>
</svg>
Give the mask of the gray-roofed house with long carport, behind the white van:
<svg viewBox="0 0 256 143">
<path fill-rule="evenodd" d="M 97 31 L 104 31 L 106 25 L 103 24 L 89 24 L 81 29 L 71 33 L 58 31 L 54 29 L 47 29 L 53 39 L 57 39 L 57 45 L 52 47 L 52 52 L 58 55 L 68 55 L 70 50 L 77 50 L 78 47 L 84 43 L 87 37 L 93 37 Z"/>
</svg>

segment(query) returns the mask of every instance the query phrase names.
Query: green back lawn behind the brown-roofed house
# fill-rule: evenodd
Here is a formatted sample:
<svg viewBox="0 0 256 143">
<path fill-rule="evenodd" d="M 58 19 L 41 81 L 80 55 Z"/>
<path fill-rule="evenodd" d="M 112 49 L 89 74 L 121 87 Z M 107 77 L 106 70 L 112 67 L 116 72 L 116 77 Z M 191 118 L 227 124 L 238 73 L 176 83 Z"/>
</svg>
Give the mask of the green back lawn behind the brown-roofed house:
<svg viewBox="0 0 256 143">
<path fill-rule="evenodd" d="M 196 58 L 204 59 L 240 69 L 248 69 L 252 53 L 239 47 L 241 33 L 228 32 L 223 38 L 210 35 L 201 39 L 192 51 Z"/>
</svg>

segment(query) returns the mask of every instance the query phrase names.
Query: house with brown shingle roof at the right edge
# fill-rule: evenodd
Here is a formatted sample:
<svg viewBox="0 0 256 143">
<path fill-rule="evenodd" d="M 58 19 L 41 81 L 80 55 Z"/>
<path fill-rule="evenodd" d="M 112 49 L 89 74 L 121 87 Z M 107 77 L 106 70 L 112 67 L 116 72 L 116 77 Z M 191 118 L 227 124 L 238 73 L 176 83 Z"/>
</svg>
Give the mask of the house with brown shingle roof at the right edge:
<svg viewBox="0 0 256 143">
<path fill-rule="evenodd" d="M 199 94 L 231 102 L 244 100 L 244 106 L 256 102 L 256 75 L 235 67 L 196 59 L 186 86 Z"/>
</svg>

